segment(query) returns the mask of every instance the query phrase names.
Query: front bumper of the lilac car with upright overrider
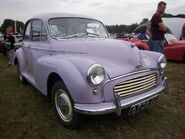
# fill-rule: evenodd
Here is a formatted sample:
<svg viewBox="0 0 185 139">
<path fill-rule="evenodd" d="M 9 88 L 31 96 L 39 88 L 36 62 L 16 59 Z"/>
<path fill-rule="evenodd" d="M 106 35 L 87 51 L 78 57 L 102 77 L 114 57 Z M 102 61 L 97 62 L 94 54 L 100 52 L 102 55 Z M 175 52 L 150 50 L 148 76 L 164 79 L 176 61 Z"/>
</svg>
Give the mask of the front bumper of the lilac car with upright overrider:
<svg viewBox="0 0 185 139">
<path fill-rule="evenodd" d="M 74 104 L 75 111 L 81 114 L 86 115 L 102 115 L 107 113 L 115 112 L 119 116 L 121 115 L 121 110 L 125 108 L 129 108 L 135 104 L 140 102 L 155 100 L 158 98 L 159 94 L 167 88 L 166 83 L 167 77 L 163 77 L 160 84 L 149 90 L 145 93 L 141 93 L 135 96 L 130 96 L 124 99 L 120 99 L 119 95 L 114 95 L 113 102 L 105 102 L 98 104 Z"/>
</svg>

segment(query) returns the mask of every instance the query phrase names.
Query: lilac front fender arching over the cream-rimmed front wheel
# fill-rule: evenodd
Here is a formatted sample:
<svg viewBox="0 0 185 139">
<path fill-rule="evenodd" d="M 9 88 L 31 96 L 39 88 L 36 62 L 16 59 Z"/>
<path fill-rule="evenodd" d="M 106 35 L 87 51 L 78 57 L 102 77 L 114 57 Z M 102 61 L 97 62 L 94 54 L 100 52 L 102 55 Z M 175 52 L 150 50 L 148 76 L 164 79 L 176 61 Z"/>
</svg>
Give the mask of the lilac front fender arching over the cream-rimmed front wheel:
<svg viewBox="0 0 185 139">
<path fill-rule="evenodd" d="M 75 62 L 78 62 L 78 64 Z M 93 95 L 94 88 L 90 86 L 86 80 L 85 71 L 87 71 L 93 63 L 95 62 L 92 60 L 79 57 L 43 57 L 36 62 L 34 69 L 37 87 L 41 92 L 47 95 L 48 77 L 51 73 L 56 73 L 64 81 L 74 102 L 102 102 L 101 93 Z M 83 70 L 82 67 L 84 67 Z"/>
</svg>

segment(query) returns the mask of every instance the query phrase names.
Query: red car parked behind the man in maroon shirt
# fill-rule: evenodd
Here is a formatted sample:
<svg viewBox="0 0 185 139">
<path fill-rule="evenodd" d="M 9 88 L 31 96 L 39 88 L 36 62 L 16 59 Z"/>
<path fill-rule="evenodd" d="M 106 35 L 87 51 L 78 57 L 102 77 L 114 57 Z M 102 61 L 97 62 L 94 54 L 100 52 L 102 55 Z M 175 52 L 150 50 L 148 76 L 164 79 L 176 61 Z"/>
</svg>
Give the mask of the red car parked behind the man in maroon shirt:
<svg viewBox="0 0 185 139">
<path fill-rule="evenodd" d="M 141 26 L 143 28 L 144 26 Z M 142 30 L 140 27 L 137 29 Z M 147 37 L 146 37 L 147 38 Z M 135 38 L 116 38 L 119 40 L 125 40 L 134 43 L 140 50 L 149 50 L 148 39 L 141 40 L 139 37 Z M 169 33 L 165 34 L 165 47 L 164 54 L 167 60 L 184 61 L 185 62 L 185 41 L 180 41 L 169 30 Z"/>
</svg>

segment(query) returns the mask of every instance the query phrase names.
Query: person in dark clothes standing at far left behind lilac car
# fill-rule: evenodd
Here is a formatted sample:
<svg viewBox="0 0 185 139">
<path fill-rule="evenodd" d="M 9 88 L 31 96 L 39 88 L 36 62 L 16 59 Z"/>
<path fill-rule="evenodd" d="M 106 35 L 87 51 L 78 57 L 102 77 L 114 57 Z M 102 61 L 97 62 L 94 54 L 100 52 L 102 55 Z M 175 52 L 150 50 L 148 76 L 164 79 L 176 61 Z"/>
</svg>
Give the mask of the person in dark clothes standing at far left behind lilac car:
<svg viewBox="0 0 185 139">
<path fill-rule="evenodd" d="M 6 28 L 6 34 L 4 36 L 5 48 L 7 50 L 8 56 L 8 66 L 13 65 L 13 57 L 14 57 L 14 43 L 15 38 L 12 36 L 13 27 L 9 26 Z"/>
</svg>

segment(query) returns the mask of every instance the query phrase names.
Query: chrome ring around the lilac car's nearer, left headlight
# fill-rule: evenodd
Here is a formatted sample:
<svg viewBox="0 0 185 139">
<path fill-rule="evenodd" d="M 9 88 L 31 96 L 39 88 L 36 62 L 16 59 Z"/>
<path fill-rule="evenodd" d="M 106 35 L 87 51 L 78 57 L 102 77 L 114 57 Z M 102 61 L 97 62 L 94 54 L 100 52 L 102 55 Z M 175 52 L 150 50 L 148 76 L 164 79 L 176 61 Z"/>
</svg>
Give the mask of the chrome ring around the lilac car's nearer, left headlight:
<svg viewBox="0 0 185 139">
<path fill-rule="evenodd" d="M 102 70 L 102 72 L 103 72 L 103 79 L 102 79 L 100 82 L 98 82 L 98 83 L 95 83 L 95 82 L 92 80 L 92 78 L 91 78 L 92 73 L 94 72 L 94 70 L 95 70 L 96 68 L 101 68 L 101 70 Z M 100 85 L 100 84 L 104 81 L 104 79 L 105 79 L 105 69 L 104 69 L 103 66 L 101 66 L 100 64 L 93 64 L 93 65 L 91 65 L 90 68 L 88 69 L 88 71 L 87 71 L 87 76 L 86 76 L 86 77 L 87 77 L 88 83 L 89 83 L 91 86 L 98 86 L 98 85 Z"/>
</svg>

